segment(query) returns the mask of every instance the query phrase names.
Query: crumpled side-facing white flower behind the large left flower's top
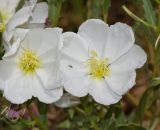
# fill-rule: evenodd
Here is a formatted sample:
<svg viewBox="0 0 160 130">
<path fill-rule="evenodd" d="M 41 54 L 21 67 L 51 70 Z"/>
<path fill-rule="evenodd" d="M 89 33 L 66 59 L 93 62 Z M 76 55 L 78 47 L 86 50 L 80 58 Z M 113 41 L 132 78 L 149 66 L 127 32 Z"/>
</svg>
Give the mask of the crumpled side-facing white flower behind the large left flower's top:
<svg viewBox="0 0 160 130">
<path fill-rule="evenodd" d="M 25 5 L 15 13 L 6 25 L 6 30 L 3 35 L 5 50 L 11 51 L 9 53 L 14 53 L 14 51 L 11 50 L 11 48 L 13 49 L 13 40 L 14 42 L 22 40 L 14 36 L 17 28 L 42 28 L 45 26 L 47 17 L 48 5 L 46 2 L 37 3 L 37 0 L 26 1 Z"/>
</svg>

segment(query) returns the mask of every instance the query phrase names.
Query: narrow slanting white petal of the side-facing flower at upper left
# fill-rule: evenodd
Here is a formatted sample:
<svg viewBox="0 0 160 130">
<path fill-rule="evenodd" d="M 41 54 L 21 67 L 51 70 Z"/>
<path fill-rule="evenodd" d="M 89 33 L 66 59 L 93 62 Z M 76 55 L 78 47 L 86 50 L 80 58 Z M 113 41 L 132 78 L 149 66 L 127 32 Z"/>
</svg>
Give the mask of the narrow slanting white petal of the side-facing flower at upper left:
<svg viewBox="0 0 160 130">
<path fill-rule="evenodd" d="M 34 5 L 26 6 L 17 11 L 17 13 L 8 22 L 6 30 L 8 32 L 12 31 L 14 28 L 26 23 L 29 17 L 32 15 Z"/>
</svg>

